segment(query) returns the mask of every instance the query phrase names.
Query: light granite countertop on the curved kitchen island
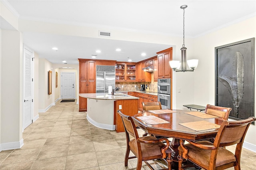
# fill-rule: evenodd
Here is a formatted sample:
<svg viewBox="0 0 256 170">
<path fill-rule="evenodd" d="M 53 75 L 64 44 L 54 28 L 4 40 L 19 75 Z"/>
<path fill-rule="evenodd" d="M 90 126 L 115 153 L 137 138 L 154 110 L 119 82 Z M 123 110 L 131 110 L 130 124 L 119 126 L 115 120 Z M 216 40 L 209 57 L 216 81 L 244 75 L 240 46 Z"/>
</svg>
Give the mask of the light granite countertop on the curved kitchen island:
<svg viewBox="0 0 256 170">
<path fill-rule="evenodd" d="M 123 93 L 114 93 L 115 95 L 108 95 L 108 93 L 79 93 L 80 97 L 88 99 L 99 99 L 99 100 L 131 100 L 140 99 L 138 97 L 126 95 Z"/>
</svg>

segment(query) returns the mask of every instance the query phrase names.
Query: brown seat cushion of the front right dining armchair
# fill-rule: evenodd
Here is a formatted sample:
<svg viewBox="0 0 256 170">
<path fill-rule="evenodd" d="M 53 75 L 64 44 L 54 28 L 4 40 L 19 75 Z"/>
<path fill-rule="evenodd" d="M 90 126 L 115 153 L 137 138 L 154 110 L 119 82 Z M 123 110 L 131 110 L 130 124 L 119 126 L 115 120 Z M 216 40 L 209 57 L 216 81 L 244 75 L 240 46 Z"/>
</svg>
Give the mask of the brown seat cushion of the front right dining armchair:
<svg viewBox="0 0 256 170">
<path fill-rule="evenodd" d="M 197 143 L 213 145 L 212 142 L 209 142 L 209 141 L 200 141 Z M 192 144 L 185 144 L 185 146 L 186 148 L 188 148 L 189 160 L 191 160 L 196 164 L 197 162 L 200 162 L 200 165 L 202 165 L 202 168 L 209 166 L 212 150 L 201 149 Z M 181 146 L 178 147 L 178 150 L 183 151 Z M 235 161 L 236 161 L 236 158 L 232 152 L 222 147 L 218 148 L 218 153 L 216 157 L 216 167 L 221 166 L 223 164 L 230 163 L 230 162 L 235 162 Z"/>
</svg>

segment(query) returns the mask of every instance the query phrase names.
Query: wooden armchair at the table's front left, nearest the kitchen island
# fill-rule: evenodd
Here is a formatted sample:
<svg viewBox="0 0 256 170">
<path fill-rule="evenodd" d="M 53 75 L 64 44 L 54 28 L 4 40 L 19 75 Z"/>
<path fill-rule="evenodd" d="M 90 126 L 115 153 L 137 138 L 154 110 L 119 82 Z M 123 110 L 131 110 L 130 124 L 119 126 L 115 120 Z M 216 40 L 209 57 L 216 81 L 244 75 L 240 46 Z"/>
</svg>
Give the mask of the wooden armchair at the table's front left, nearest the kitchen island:
<svg viewBox="0 0 256 170">
<path fill-rule="evenodd" d="M 142 161 L 144 161 L 150 169 L 153 169 L 147 160 L 163 159 L 168 164 L 168 170 L 171 170 L 172 150 L 169 147 L 170 143 L 168 139 L 157 139 L 154 136 L 139 137 L 132 117 L 124 115 L 120 110 L 118 110 L 118 114 L 122 118 L 126 133 L 126 155 L 124 166 L 128 166 L 128 159 L 138 158 L 136 170 L 141 169 Z M 130 139 L 129 134 L 134 138 Z M 162 141 L 166 141 L 166 144 L 162 143 Z M 132 151 L 135 156 L 129 157 L 130 151 Z"/>
</svg>

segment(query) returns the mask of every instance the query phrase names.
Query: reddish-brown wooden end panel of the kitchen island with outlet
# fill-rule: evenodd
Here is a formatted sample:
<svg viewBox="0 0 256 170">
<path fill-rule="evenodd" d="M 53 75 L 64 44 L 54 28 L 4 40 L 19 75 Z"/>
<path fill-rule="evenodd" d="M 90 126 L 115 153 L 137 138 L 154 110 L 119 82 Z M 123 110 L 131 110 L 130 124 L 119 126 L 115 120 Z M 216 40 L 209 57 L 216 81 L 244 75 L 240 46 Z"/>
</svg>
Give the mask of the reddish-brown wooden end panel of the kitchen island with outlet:
<svg viewBox="0 0 256 170">
<path fill-rule="evenodd" d="M 122 109 L 119 109 L 119 105 L 122 105 Z M 120 115 L 117 113 L 118 110 L 128 116 L 138 114 L 138 99 L 114 101 L 114 124 L 116 125 L 116 132 L 124 132 L 124 124 Z"/>
</svg>

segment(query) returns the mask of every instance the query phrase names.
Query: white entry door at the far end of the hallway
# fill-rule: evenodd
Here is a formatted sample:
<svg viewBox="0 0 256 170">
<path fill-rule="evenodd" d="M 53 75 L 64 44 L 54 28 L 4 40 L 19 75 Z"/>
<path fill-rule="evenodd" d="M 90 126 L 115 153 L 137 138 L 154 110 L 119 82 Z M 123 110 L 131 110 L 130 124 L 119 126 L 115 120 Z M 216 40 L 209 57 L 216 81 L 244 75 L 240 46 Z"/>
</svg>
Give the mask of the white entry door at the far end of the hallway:
<svg viewBox="0 0 256 170">
<path fill-rule="evenodd" d="M 61 98 L 75 98 L 75 73 L 61 73 Z"/>
</svg>

